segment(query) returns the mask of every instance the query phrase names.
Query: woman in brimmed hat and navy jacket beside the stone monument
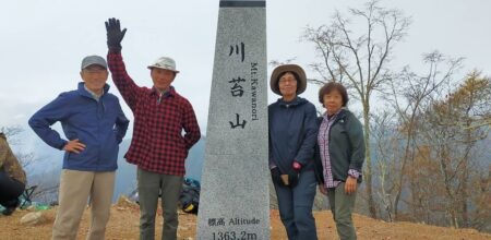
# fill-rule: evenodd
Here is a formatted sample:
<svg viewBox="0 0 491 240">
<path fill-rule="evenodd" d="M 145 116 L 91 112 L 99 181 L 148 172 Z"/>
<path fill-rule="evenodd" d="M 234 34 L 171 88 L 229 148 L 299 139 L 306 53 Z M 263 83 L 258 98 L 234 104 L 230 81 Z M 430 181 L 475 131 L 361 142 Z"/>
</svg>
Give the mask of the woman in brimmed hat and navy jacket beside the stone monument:
<svg viewBox="0 0 491 240">
<path fill-rule="evenodd" d="M 270 168 L 279 216 L 290 240 L 318 239 L 312 215 L 316 111 L 298 97 L 306 87 L 306 73 L 299 65 L 279 65 L 272 73 L 271 89 L 282 98 L 268 107 Z"/>
</svg>

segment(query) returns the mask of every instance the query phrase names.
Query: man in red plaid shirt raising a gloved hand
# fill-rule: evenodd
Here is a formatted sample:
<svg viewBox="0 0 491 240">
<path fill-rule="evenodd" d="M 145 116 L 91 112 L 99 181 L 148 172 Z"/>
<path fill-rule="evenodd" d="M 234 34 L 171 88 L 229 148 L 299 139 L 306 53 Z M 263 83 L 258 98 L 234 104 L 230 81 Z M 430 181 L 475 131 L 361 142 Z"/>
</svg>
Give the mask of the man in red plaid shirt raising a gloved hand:
<svg viewBox="0 0 491 240">
<path fill-rule="evenodd" d="M 128 75 L 121 57 L 127 29 L 121 31 L 116 19 L 106 22 L 106 29 L 109 70 L 134 115 L 133 139 L 124 157 L 137 166 L 140 239 L 154 239 L 159 191 L 164 212 L 161 239 L 177 239 L 184 160 L 201 136 L 194 110 L 170 85 L 179 73 L 171 58 L 163 57 L 148 65 L 154 86 L 140 87 Z"/>
</svg>

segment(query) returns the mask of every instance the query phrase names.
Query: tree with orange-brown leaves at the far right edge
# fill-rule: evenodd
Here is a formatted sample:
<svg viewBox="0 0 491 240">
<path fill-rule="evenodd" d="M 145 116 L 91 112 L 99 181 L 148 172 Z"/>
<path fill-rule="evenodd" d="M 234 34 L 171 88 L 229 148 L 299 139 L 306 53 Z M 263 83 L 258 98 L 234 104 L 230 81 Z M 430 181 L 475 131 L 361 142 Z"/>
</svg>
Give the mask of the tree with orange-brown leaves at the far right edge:
<svg viewBox="0 0 491 240">
<path fill-rule="evenodd" d="M 453 227 L 470 226 L 470 192 L 476 145 L 488 137 L 489 128 L 476 127 L 491 112 L 491 81 L 470 73 L 465 82 L 424 112 L 422 131 L 439 164 L 445 193 L 446 219 Z M 474 207 L 474 206 L 472 206 Z"/>
</svg>

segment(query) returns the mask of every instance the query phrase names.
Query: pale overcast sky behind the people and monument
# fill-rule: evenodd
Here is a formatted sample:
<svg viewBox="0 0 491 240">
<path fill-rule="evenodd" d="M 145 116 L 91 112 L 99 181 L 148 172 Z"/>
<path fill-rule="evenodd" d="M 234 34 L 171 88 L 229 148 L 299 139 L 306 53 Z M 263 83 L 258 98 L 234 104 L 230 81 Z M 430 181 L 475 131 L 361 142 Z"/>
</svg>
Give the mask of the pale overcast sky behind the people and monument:
<svg viewBox="0 0 491 240">
<path fill-rule="evenodd" d="M 205 133 L 215 52 L 218 0 L 124 1 L 44 0 L 4 1 L 0 8 L 0 127 L 26 128 L 28 118 L 61 92 L 76 88 L 80 64 L 87 55 L 106 56 L 108 17 L 121 20 L 128 32 L 122 55 L 129 74 L 141 86 L 152 86 L 151 62 L 172 57 L 180 74 L 176 89 L 194 107 Z M 359 8 L 360 0 L 267 0 L 267 58 L 304 67 L 316 62 L 314 47 L 301 41 L 307 25 L 330 24 L 335 10 Z M 464 57 L 466 72 L 478 69 L 491 75 L 491 1 L 489 0 L 384 0 L 412 17 L 408 36 L 394 48 L 393 68 L 424 71 L 421 56 L 439 50 Z M 268 75 L 273 67 L 268 67 Z M 266 80 L 265 80 L 266 81 Z M 268 81 L 268 80 L 267 80 Z M 120 96 L 109 79 L 110 93 Z M 316 101 L 318 85 L 302 97 Z M 268 103 L 278 96 L 268 92 Z M 128 106 L 123 110 L 133 119 Z M 130 127 L 130 132 L 132 127 Z M 127 135 L 131 137 L 131 134 Z"/>
</svg>

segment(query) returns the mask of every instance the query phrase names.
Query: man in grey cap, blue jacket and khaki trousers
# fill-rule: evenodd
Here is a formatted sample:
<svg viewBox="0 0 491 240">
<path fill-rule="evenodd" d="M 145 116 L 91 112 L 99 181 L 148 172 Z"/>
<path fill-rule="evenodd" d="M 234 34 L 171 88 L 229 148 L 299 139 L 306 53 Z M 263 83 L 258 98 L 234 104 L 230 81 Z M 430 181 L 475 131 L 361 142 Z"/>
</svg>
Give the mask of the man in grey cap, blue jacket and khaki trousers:
<svg viewBox="0 0 491 240">
<path fill-rule="evenodd" d="M 104 239 L 115 187 L 118 148 L 129 120 L 118 98 L 108 93 L 106 60 L 82 60 L 83 82 L 38 110 L 29 125 L 48 145 L 64 151 L 59 208 L 52 239 L 75 239 L 87 199 L 92 223 L 87 239 Z M 67 140 L 50 125 L 60 121 Z"/>
</svg>

